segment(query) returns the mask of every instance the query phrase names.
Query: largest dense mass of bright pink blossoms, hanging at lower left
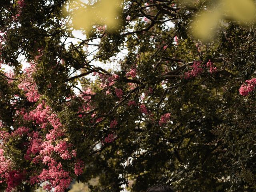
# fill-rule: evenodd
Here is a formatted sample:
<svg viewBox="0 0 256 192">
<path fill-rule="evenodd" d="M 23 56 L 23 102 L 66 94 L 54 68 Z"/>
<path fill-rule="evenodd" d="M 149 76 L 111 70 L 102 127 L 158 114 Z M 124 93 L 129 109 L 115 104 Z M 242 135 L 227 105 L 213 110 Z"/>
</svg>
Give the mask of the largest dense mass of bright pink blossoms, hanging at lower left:
<svg viewBox="0 0 256 192">
<path fill-rule="evenodd" d="M 38 104 L 36 109 L 30 112 L 22 111 L 20 114 L 23 115 L 25 121 L 32 120 L 35 126 L 39 125 L 44 131 L 48 131 L 46 140 L 41 136 L 40 129 L 32 133 L 29 133 L 29 130 L 26 128 L 18 128 L 16 131 L 16 134 L 26 133 L 30 140 L 26 144 L 27 151 L 24 158 L 34 164 L 42 163 L 48 166 L 48 168 L 42 171 L 39 170 L 39 172 L 35 172 L 33 176 L 30 176 L 31 184 L 47 181 L 48 184 L 45 186 L 46 190 L 51 191 L 52 188 L 54 188 L 56 192 L 64 192 L 70 185 L 72 179 L 70 172 L 63 170 L 61 162 L 58 161 L 60 161 L 60 158 L 63 160 L 75 158 L 76 150 L 73 149 L 71 143 L 62 140 L 62 136 L 64 136 L 65 132 L 58 115 L 54 113 L 44 101 Z M 47 130 L 48 128 L 49 130 Z M 57 159 L 55 159 L 56 154 L 58 154 L 60 158 L 57 156 Z M 74 169 L 76 174 L 80 174 L 82 163 L 77 164 Z"/>
</svg>

